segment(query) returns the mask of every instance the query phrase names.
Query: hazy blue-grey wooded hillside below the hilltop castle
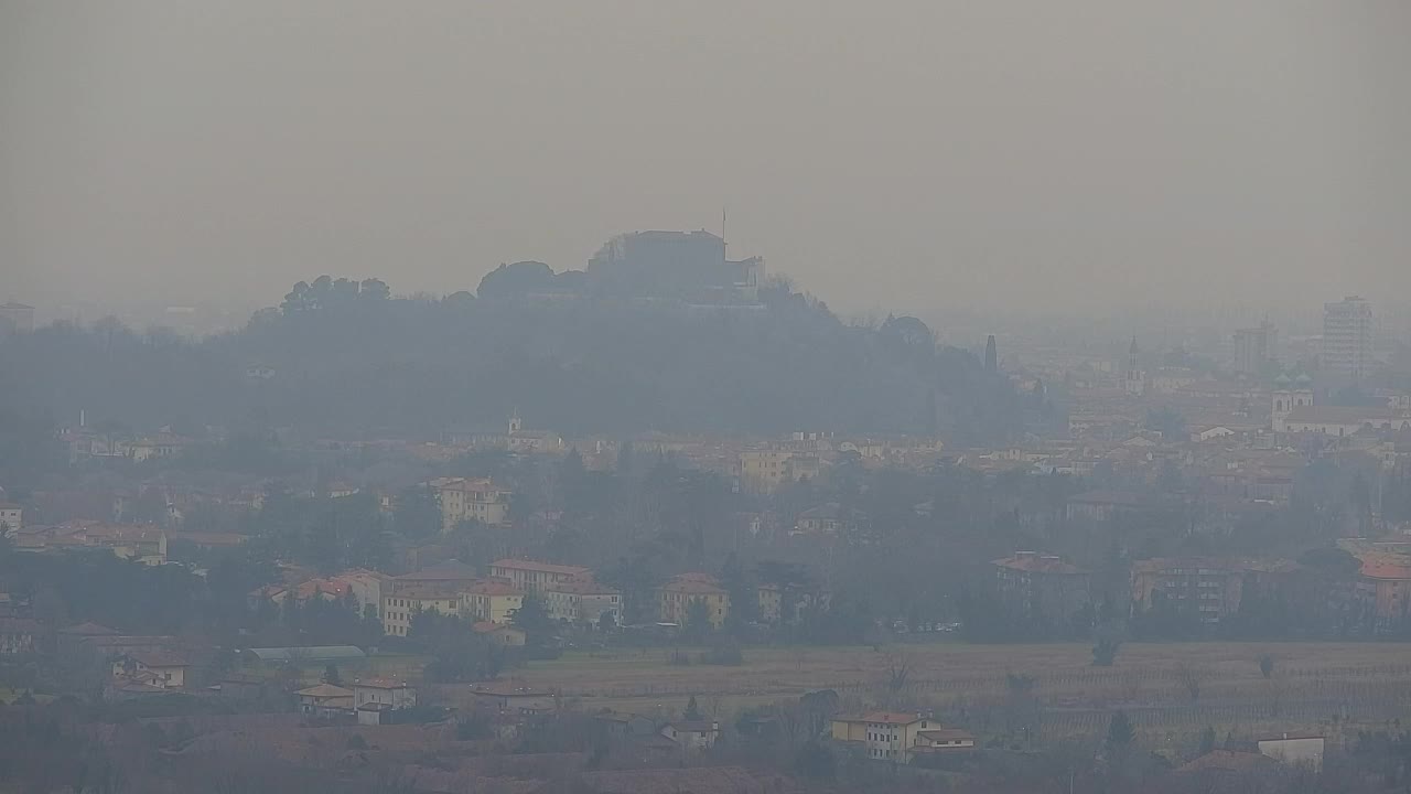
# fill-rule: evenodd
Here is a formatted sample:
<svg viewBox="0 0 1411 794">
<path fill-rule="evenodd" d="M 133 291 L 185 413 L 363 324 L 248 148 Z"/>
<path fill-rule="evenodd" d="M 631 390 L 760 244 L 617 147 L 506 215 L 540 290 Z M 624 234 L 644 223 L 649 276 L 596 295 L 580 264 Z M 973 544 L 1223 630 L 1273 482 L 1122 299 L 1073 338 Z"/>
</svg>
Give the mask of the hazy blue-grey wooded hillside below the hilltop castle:
<svg viewBox="0 0 1411 794">
<path fill-rule="evenodd" d="M 377 280 L 301 283 L 279 308 L 200 342 L 116 321 L 52 325 L 0 343 L 24 373 L 0 408 L 76 424 L 205 424 L 433 434 L 501 427 L 588 432 L 797 428 L 1017 431 L 1017 398 L 914 318 L 840 321 L 775 287 L 752 309 L 614 300 L 391 298 Z"/>
</svg>

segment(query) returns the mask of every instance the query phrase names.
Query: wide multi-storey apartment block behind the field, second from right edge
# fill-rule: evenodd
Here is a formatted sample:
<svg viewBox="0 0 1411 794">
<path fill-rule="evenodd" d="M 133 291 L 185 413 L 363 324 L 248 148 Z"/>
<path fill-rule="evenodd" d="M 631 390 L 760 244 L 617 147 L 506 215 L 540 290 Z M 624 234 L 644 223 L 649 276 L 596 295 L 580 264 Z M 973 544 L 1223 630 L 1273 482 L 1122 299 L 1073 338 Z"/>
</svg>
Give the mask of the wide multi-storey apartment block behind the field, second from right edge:
<svg viewBox="0 0 1411 794">
<path fill-rule="evenodd" d="M 1132 608 L 1174 608 L 1219 623 L 1239 612 L 1246 567 L 1236 561 L 1178 557 L 1132 564 Z"/>
</svg>

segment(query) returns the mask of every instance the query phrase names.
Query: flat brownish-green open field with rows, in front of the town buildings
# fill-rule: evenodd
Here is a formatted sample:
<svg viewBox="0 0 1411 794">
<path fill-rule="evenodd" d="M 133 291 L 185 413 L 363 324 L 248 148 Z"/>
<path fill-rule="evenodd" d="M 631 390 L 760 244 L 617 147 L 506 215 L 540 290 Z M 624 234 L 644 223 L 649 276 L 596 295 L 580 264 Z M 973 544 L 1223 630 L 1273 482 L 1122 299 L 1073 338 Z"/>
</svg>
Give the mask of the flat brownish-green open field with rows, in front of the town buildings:
<svg viewBox="0 0 1411 794">
<path fill-rule="evenodd" d="M 1276 660 L 1267 680 L 1259 667 L 1264 653 Z M 512 677 L 555 688 L 586 709 L 665 713 L 697 695 L 724 719 L 746 705 L 832 688 L 849 705 L 890 699 L 998 732 L 1009 699 L 1006 674 L 1013 672 L 1034 677 L 1047 739 L 1099 733 L 1119 708 L 1139 726 L 1173 736 L 1206 725 L 1257 732 L 1411 718 L 1411 646 L 1390 643 L 1132 643 L 1106 668 L 1092 667 L 1088 644 L 748 648 L 741 667 L 673 665 L 667 654 L 573 653 Z M 690 657 L 698 658 L 698 650 Z M 892 695 L 885 678 L 896 660 L 904 660 L 909 677 Z"/>
</svg>

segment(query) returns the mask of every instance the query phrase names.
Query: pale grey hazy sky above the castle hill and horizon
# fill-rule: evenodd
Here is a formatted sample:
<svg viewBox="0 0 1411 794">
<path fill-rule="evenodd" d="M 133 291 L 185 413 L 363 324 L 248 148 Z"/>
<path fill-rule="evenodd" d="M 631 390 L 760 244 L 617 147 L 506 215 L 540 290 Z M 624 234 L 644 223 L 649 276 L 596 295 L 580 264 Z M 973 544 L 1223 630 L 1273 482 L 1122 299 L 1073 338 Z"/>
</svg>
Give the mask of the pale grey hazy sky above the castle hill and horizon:
<svg viewBox="0 0 1411 794">
<path fill-rule="evenodd" d="M 1405 0 L 0 0 L 0 301 L 718 229 L 835 307 L 1411 292 Z"/>
</svg>

